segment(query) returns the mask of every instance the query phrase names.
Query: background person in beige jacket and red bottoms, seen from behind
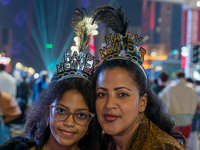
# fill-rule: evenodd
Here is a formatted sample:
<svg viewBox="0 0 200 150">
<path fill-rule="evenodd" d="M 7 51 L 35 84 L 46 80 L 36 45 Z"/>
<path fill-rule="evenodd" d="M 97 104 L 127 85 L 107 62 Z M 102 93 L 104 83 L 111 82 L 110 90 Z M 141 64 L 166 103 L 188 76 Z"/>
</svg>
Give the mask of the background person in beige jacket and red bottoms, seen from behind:
<svg viewBox="0 0 200 150">
<path fill-rule="evenodd" d="M 191 83 L 185 80 L 184 71 L 177 71 L 176 83 L 165 88 L 159 96 L 164 101 L 168 113 L 173 115 L 176 129 L 183 133 L 188 143 L 198 95 Z"/>
</svg>

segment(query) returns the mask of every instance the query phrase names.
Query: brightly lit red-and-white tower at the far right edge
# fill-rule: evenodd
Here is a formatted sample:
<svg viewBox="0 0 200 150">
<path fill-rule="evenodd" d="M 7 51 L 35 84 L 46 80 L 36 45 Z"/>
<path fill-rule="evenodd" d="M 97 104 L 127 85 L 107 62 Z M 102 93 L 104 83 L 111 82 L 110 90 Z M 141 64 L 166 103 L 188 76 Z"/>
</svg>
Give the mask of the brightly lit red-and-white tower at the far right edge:
<svg viewBox="0 0 200 150">
<path fill-rule="evenodd" d="M 182 45 L 188 49 L 185 73 L 200 80 L 200 1 L 184 0 L 182 11 Z"/>
</svg>

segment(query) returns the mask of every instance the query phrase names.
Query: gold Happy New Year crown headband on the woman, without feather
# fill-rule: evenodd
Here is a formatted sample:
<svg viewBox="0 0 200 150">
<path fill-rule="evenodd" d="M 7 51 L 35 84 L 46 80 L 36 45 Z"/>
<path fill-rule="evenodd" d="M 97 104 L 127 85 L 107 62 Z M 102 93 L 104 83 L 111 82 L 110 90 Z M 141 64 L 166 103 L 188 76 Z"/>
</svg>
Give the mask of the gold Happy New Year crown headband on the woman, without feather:
<svg viewBox="0 0 200 150">
<path fill-rule="evenodd" d="M 123 39 L 127 39 L 128 42 L 125 43 Z M 143 47 L 140 47 L 138 51 L 137 46 L 139 41 L 142 40 L 142 37 L 138 38 L 138 35 L 133 33 L 128 33 L 126 36 L 121 35 L 120 37 L 118 33 L 115 33 L 114 37 L 112 34 L 110 34 L 109 38 L 105 36 L 105 40 L 106 46 L 99 50 L 102 61 L 114 59 L 129 60 L 142 70 L 147 80 L 146 72 L 141 66 L 144 62 L 146 50 Z"/>
</svg>

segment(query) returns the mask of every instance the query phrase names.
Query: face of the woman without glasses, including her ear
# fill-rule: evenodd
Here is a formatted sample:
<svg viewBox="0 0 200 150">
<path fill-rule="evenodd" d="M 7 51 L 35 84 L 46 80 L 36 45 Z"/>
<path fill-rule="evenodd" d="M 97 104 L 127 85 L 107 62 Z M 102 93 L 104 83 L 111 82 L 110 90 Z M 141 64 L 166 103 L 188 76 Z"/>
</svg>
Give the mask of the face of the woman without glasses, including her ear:
<svg viewBox="0 0 200 150">
<path fill-rule="evenodd" d="M 139 90 L 128 71 L 121 67 L 103 70 L 96 82 L 96 112 L 103 130 L 112 136 L 133 134 L 147 95 Z"/>
</svg>

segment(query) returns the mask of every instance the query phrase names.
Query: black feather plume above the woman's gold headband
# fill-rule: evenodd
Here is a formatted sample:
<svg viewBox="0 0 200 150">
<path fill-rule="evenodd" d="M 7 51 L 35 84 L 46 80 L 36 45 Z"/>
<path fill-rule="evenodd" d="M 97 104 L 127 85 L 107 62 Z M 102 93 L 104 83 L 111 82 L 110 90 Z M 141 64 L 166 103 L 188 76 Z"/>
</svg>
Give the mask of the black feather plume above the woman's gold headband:
<svg viewBox="0 0 200 150">
<path fill-rule="evenodd" d="M 117 5 L 116 8 L 110 5 L 100 6 L 93 11 L 93 14 L 93 21 L 105 24 L 113 31 L 125 35 L 130 21 L 128 18 L 124 18 L 125 13 L 122 5 Z"/>
</svg>

